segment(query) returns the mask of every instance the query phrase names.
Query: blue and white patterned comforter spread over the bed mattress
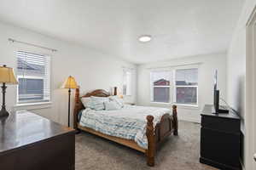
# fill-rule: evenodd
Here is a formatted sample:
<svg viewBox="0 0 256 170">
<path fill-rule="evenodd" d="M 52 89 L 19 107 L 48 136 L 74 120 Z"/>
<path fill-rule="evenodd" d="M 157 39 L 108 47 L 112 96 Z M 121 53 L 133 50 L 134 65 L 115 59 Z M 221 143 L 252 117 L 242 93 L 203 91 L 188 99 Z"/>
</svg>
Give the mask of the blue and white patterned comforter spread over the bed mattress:
<svg viewBox="0 0 256 170">
<path fill-rule="evenodd" d="M 94 111 L 89 108 L 79 113 L 79 125 L 123 139 L 132 139 L 143 149 L 148 149 L 146 125 L 148 115 L 154 116 L 154 126 L 163 115 L 172 111 L 160 107 L 125 105 L 120 110 Z"/>
</svg>

